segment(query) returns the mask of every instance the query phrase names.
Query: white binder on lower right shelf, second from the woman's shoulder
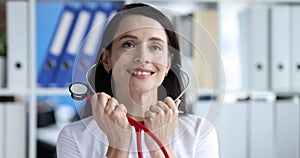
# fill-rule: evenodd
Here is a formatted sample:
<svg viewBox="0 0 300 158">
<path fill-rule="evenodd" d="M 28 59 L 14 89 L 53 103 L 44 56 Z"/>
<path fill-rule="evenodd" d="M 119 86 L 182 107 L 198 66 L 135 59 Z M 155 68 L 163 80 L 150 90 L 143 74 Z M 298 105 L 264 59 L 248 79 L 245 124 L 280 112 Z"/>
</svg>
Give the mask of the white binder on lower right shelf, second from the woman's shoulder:
<svg viewBox="0 0 300 158">
<path fill-rule="evenodd" d="M 274 154 L 274 103 L 249 101 L 249 157 L 272 158 Z"/>
</svg>

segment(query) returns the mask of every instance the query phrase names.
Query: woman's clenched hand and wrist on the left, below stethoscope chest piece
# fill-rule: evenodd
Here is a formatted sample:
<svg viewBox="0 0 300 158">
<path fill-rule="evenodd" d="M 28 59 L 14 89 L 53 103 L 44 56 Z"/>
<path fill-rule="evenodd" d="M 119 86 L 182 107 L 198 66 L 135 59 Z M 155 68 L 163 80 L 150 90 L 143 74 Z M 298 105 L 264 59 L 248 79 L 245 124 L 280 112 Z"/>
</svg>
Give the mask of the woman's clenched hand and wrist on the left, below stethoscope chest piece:
<svg viewBox="0 0 300 158">
<path fill-rule="evenodd" d="M 106 134 L 111 148 L 129 151 L 131 146 L 131 125 L 123 104 L 106 93 L 97 93 L 91 99 L 93 117 Z"/>
</svg>

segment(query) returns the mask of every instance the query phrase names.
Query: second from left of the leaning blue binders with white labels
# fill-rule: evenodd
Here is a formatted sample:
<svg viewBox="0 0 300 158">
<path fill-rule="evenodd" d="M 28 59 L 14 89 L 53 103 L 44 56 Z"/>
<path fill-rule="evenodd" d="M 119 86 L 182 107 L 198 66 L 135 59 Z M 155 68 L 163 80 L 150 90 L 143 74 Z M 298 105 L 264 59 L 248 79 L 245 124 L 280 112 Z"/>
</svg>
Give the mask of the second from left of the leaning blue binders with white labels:
<svg viewBox="0 0 300 158">
<path fill-rule="evenodd" d="M 93 17 L 93 9 L 83 6 L 71 30 L 71 37 L 65 43 L 66 49 L 63 50 L 60 58 L 60 63 L 54 77 L 56 86 L 65 87 L 71 83 L 71 74 L 76 53 L 79 51 L 82 41 L 85 39 L 91 19 Z"/>
</svg>

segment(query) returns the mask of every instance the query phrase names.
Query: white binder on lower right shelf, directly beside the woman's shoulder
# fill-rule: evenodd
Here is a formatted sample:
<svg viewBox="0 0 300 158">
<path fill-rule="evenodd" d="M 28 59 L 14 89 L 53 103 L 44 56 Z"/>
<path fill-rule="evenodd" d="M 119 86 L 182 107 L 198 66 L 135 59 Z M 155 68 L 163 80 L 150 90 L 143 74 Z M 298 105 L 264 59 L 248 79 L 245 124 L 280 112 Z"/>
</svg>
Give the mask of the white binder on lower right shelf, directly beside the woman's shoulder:
<svg viewBox="0 0 300 158">
<path fill-rule="evenodd" d="M 216 124 L 220 158 L 246 158 L 249 107 L 247 102 L 224 104 Z"/>
</svg>

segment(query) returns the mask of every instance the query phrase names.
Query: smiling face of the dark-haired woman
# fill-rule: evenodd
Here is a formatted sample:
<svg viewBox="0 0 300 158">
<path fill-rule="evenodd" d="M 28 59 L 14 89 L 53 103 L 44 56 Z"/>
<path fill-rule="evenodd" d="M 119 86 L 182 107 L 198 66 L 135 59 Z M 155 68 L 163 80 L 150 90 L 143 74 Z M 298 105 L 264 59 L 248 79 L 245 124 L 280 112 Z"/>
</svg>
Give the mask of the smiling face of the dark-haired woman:
<svg viewBox="0 0 300 158">
<path fill-rule="evenodd" d="M 121 86 L 130 94 L 156 91 L 171 65 L 164 28 L 141 15 L 122 19 L 111 52 L 105 51 L 103 57 L 113 69 L 116 91 Z"/>
</svg>

